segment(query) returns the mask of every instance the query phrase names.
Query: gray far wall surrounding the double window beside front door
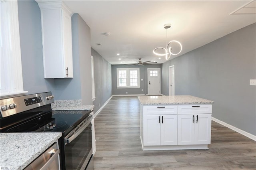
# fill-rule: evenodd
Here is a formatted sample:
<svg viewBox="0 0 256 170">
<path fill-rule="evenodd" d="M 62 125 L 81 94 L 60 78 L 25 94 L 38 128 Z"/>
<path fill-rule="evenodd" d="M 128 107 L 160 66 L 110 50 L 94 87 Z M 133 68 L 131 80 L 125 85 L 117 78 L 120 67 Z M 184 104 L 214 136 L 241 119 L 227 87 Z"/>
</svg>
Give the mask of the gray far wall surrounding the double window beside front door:
<svg viewBox="0 0 256 170">
<path fill-rule="evenodd" d="M 116 80 L 116 69 L 117 68 L 140 68 L 140 79 L 143 79 L 143 81 L 140 81 L 140 88 L 131 88 L 131 89 L 117 89 L 117 80 Z M 161 64 L 150 64 L 150 65 L 112 65 L 112 94 L 113 95 L 126 95 L 126 92 L 128 92 L 128 95 L 146 95 L 148 93 L 148 76 L 147 76 L 147 70 L 148 68 L 161 68 Z M 143 91 L 142 91 L 143 89 Z"/>
</svg>

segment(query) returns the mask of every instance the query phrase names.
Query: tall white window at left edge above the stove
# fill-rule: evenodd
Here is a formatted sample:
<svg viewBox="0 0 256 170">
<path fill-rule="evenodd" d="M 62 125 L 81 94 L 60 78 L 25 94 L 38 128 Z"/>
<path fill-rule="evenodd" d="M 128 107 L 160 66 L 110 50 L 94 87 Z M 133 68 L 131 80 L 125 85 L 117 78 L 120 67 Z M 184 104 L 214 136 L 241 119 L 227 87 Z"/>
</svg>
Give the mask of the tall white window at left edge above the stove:
<svg viewBox="0 0 256 170">
<path fill-rule="evenodd" d="M 17 1 L 0 1 L 0 96 L 9 97 L 23 91 L 20 33 Z"/>
</svg>

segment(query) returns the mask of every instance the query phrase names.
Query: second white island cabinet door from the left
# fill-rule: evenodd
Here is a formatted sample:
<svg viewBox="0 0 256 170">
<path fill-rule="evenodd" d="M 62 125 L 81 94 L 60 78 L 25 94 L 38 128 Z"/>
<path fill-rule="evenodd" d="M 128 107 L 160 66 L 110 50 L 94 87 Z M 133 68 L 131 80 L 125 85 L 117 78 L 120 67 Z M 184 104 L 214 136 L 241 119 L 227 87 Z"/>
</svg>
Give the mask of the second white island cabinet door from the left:
<svg viewBox="0 0 256 170">
<path fill-rule="evenodd" d="M 161 145 L 177 145 L 177 115 L 161 115 Z"/>
</svg>

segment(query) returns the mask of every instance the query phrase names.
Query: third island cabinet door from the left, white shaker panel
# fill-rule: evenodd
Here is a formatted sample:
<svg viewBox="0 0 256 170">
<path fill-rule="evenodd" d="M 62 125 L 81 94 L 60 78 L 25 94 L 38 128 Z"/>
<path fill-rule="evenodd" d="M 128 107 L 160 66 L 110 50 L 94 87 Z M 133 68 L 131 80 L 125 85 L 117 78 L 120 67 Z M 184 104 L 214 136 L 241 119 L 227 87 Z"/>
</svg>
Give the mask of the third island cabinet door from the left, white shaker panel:
<svg viewBox="0 0 256 170">
<path fill-rule="evenodd" d="M 194 144 L 193 115 L 178 115 L 178 145 Z"/>
</svg>

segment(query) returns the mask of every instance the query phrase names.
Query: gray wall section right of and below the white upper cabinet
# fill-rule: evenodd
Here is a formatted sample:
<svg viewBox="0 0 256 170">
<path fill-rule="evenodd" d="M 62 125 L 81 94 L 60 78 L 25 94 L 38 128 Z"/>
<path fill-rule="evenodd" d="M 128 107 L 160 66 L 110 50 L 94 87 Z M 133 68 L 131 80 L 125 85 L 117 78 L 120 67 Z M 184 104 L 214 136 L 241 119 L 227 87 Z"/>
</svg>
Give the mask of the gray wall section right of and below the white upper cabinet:
<svg viewBox="0 0 256 170">
<path fill-rule="evenodd" d="M 83 105 L 92 105 L 90 28 L 79 16 L 72 16 L 72 79 L 55 79 L 57 100 L 82 99 Z"/>
</svg>

